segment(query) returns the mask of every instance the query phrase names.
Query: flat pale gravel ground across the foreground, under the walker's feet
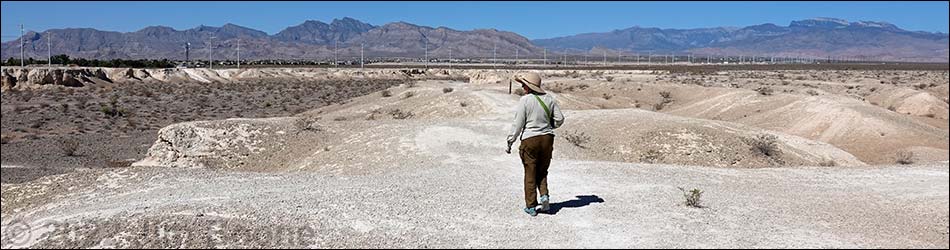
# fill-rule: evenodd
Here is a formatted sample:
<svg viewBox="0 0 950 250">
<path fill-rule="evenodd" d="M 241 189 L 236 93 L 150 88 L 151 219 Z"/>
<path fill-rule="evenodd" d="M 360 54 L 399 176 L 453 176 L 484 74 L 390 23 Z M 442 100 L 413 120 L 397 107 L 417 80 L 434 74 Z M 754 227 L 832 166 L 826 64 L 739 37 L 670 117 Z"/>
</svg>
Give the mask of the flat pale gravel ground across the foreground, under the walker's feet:
<svg viewBox="0 0 950 250">
<path fill-rule="evenodd" d="M 535 218 L 520 211 L 516 166 L 498 157 L 386 176 L 91 170 L 71 178 L 96 185 L 75 187 L 49 204 L 5 210 L 3 247 L 942 248 L 948 242 L 947 165 L 736 170 L 557 161 L 550 182 L 560 206 Z M 683 206 L 677 187 L 703 189 L 706 208 Z M 4 186 L 4 208 L 6 193 L 18 191 Z M 8 221 L 14 218 L 29 223 L 32 240 L 9 232 L 18 225 Z"/>
</svg>

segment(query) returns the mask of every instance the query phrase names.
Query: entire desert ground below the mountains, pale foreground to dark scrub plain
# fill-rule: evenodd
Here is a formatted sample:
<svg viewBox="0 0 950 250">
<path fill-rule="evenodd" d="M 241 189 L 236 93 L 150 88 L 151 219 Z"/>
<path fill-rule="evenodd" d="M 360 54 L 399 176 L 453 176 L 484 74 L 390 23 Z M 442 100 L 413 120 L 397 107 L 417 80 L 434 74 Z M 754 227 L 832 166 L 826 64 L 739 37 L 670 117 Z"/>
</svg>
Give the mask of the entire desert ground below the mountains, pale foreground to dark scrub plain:
<svg viewBox="0 0 950 250">
<path fill-rule="evenodd" d="M 948 247 L 945 68 L 536 70 L 534 218 L 519 71 L 3 68 L 0 245 Z"/>
</svg>

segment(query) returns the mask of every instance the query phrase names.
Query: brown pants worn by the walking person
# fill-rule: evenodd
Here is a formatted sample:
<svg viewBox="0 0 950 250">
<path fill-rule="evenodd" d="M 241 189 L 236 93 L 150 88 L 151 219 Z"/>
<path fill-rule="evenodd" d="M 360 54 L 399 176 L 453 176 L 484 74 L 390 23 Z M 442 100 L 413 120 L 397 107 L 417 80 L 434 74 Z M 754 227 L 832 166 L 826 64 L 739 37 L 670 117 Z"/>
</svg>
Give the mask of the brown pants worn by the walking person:
<svg viewBox="0 0 950 250">
<path fill-rule="evenodd" d="M 554 151 L 554 135 L 535 136 L 521 141 L 519 148 L 524 164 L 524 201 L 528 208 L 538 205 L 538 194 L 548 195 L 548 167 Z"/>
</svg>

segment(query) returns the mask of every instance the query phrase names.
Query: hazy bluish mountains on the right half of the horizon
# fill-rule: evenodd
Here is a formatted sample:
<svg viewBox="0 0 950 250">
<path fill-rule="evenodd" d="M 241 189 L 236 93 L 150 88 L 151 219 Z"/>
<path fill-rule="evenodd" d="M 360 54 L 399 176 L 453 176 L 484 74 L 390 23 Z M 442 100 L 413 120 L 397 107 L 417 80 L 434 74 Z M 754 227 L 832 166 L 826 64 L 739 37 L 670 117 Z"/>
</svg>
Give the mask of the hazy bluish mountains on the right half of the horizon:
<svg viewBox="0 0 950 250">
<path fill-rule="evenodd" d="M 884 22 L 834 18 L 762 24 L 744 28 L 658 29 L 632 27 L 603 33 L 538 39 L 556 50 L 608 48 L 654 53 L 849 57 L 859 60 L 947 62 L 948 36 L 913 32 Z"/>
</svg>

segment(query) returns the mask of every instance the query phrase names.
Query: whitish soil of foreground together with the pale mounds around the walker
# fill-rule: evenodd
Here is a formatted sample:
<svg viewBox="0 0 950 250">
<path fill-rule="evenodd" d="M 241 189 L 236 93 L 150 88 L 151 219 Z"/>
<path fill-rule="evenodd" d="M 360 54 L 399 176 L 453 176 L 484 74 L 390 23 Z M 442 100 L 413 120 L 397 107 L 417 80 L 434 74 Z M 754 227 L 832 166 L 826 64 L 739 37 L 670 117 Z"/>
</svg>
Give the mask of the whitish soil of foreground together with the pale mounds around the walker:
<svg viewBox="0 0 950 250">
<path fill-rule="evenodd" d="M 442 93 L 444 87 L 453 91 Z M 294 136 L 251 143 L 264 147 L 267 157 L 249 158 L 240 167 L 89 169 L 3 184 L 0 243 L 3 248 L 948 245 L 946 162 L 754 169 L 633 163 L 623 150 L 611 151 L 627 147 L 629 138 L 604 138 L 610 131 L 622 135 L 635 127 L 666 126 L 669 138 L 685 138 L 698 149 L 735 145 L 730 136 L 766 133 L 633 109 L 566 110 L 568 125 L 559 133 L 589 131 L 595 137 L 587 148 L 558 139 L 549 177 L 555 210 L 528 217 L 521 211 L 520 161 L 504 154 L 517 100 L 506 89 L 441 82 L 394 87 L 389 98 L 398 100 L 374 93 L 308 112 L 321 117 L 321 131 L 312 133 L 293 131 L 281 119 L 262 121 L 278 130 L 275 137 Z M 404 97 L 407 91 L 414 96 Z M 414 116 L 364 118 L 386 116 L 372 112 L 380 107 L 412 110 Z M 597 120 L 604 114 L 630 126 Z M 704 126 L 715 129 L 698 129 Z M 698 132 L 677 134 L 681 130 Z M 854 161 L 828 144 L 778 135 L 788 162 Z M 655 138 L 667 137 L 646 139 Z M 822 152 L 799 153 L 806 149 Z M 740 156 L 741 162 L 766 162 Z M 702 189 L 704 208 L 684 206 L 679 187 Z"/>
</svg>

